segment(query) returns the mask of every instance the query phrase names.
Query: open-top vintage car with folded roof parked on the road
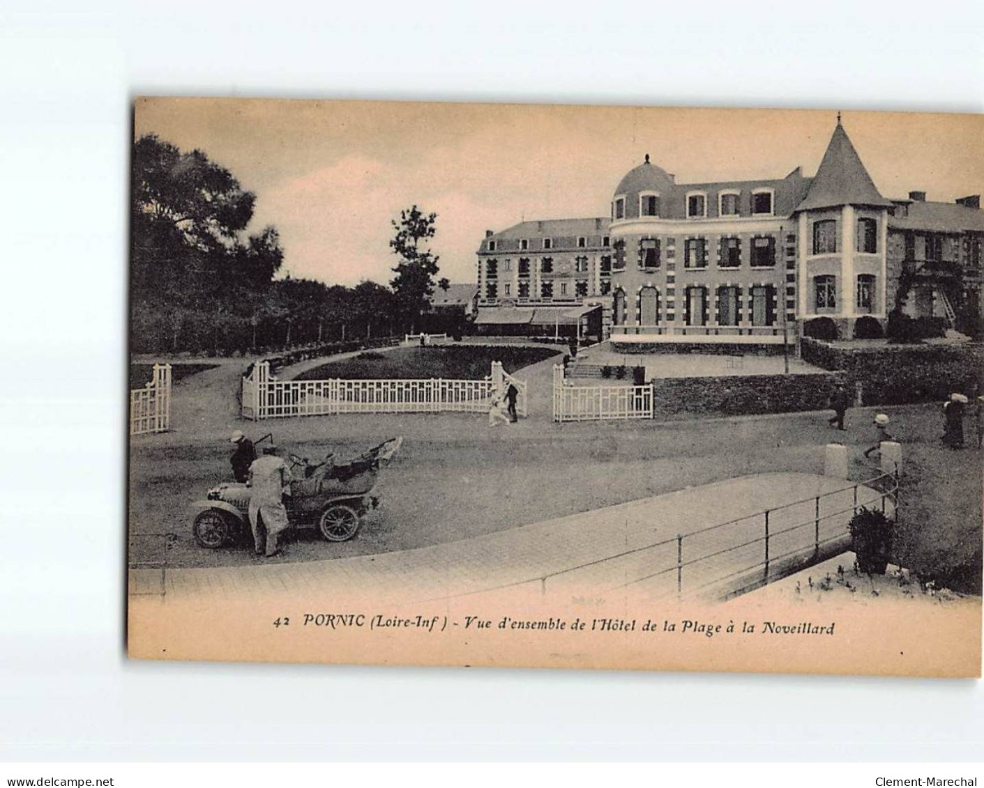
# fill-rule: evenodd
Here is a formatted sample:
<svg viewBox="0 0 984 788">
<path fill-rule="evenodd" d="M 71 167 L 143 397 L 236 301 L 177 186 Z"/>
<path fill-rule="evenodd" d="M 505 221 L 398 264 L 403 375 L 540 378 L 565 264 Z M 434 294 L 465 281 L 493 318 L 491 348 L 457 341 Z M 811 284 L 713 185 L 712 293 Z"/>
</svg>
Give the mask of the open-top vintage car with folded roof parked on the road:
<svg viewBox="0 0 984 788">
<path fill-rule="evenodd" d="M 402 437 L 391 438 L 345 462 L 329 455 L 321 463 L 289 455 L 290 495 L 284 496 L 287 519 L 294 528 L 317 528 L 329 541 L 354 536 L 362 516 L 379 500 L 372 494 L 380 472 L 400 449 Z M 209 490 L 206 500 L 192 504 L 198 510 L 192 524 L 195 540 L 216 548 L 245 540 L 250 535 L 249 482 L 228 481 Z"/>
</svg>

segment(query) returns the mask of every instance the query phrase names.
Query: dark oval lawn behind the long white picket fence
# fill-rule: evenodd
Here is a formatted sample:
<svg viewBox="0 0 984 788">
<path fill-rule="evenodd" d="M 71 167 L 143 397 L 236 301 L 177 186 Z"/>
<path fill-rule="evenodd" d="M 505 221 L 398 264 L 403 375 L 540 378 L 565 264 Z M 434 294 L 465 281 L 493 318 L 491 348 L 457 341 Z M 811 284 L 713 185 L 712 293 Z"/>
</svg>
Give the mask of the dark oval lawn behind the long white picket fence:
<svg viewBox="0 0 984 788">
<path fill-rule="evenodd" d="M 557 355 L 553 348 L 484 347 L 461 345 L 438 348 L 397 348 L 378 353 L 368 351 L 351 359 L 330 362 L 301 372 L 297 380 L 430 378 L 480 380 L 489 374 L 492 362 L 502 362 L 507 372 L 515 372 Z"/>
</svg>

